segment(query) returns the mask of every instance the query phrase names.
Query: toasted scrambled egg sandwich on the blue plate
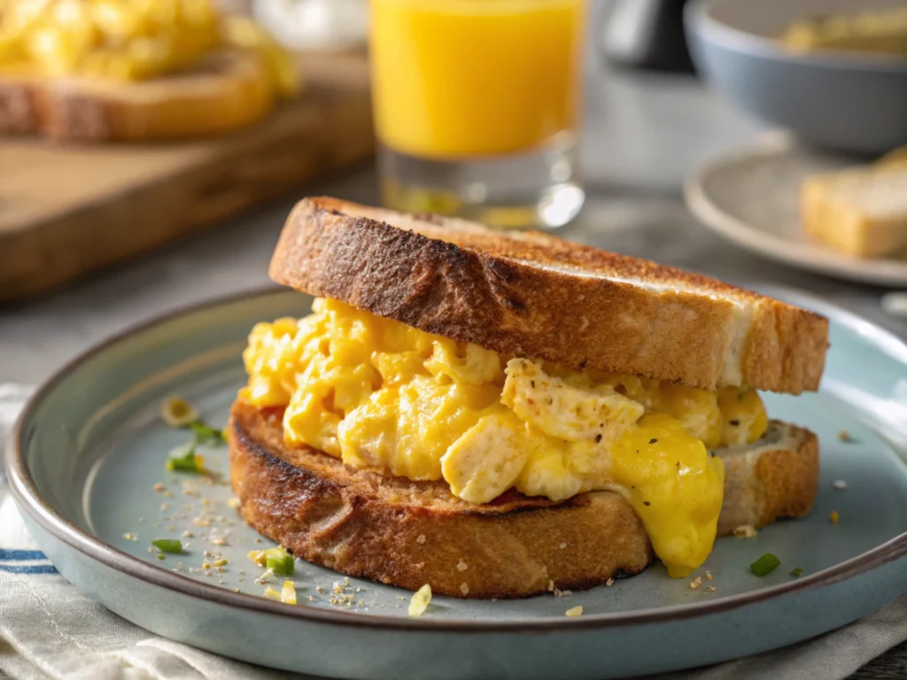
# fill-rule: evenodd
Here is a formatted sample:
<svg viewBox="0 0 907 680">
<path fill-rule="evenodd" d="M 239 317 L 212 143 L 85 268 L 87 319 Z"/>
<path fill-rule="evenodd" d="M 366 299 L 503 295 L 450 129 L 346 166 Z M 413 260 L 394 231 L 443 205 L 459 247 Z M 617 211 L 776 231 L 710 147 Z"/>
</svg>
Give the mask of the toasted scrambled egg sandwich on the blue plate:
<svg viewBox="0 0 907 680">
<path fill-rule="evenodd" d="M 242 517 L 298 558 L 454 597 L 589 588 L 813 505 L 827 321 L 545 234 L 305 199 L 229 424 Z"/>
</svg>

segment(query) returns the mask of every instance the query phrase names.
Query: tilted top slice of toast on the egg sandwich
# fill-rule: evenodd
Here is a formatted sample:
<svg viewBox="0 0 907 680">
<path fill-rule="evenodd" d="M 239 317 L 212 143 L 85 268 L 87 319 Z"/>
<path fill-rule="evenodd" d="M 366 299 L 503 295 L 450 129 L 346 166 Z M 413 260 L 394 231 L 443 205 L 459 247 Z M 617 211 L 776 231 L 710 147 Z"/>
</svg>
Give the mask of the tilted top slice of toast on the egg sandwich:
<svg viewBox="0 0 907 680">
<path fill-rule="evenodd" d="M 818 387 L 828 322 L 711 278 L 539 232 L 337 199 L 290 214 L 270 277 L 504 355 L 715 390 Z"/>
</svg>

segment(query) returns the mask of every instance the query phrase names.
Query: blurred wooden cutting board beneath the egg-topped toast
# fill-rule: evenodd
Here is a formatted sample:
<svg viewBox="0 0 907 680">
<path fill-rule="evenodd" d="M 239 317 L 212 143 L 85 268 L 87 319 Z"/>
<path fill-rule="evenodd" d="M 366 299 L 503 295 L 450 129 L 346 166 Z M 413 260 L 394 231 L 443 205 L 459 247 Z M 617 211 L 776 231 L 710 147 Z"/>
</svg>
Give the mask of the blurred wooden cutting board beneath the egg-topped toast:
<svg viewBox="0 0 907 680">
<path fill-rule="evenodd" d="M 228 137 L 0 141 L 0 302 L 197 232 L 374 151 L 364 54 L 302 57 L 306 92 Z"/>
</svg>

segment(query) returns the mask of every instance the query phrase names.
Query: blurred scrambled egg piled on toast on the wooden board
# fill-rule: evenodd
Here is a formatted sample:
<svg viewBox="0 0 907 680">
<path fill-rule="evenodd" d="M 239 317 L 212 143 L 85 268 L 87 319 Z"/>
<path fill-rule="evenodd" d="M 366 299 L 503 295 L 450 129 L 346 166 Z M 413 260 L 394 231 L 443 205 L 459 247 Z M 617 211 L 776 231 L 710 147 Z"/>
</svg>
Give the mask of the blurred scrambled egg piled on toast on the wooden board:
<svg viewBox="0 0 907 680">
<path fill-rule="evenodd" d="M 297 79 L 283 50 L 248 17 L 212 0 L 0 0 L 0 69 L 137 81 L 190 68 L 231 46 L 257 53 L 277 92 Z"/>
</svg>

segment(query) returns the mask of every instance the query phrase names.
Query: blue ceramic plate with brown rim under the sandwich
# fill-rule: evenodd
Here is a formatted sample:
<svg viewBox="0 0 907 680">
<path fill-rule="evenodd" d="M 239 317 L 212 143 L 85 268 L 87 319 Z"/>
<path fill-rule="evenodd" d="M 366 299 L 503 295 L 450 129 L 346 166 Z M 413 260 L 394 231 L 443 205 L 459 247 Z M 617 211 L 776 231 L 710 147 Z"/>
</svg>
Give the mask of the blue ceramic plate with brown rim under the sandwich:
<svg viewBox="0 0 907 680">
<path fill-rule="evenodd" d="M 814 299 L 767 292 L 833 320 L 822 391 L 766 395 L 771 413 L 819 434 L 821 490 L 805 520 L 719 539 L 706 565 L 713 579 L 703 581 L 714 591 L 655 565 L 563 597 L 435 597 L 409 618 L 408 592 L 297 561 L 299 605 L 263 597 L 262 570 L 246 553 L 272 544 L 239 520 L 225 478 L 164 471 L 187 434 L 164 426 L 159 411 L 179 394 L 225 423 L 249 328 L 307 311 L 310 298 L 288 291 L 165 318 L 70 364 L 26 408 L 9 477 L 34 538 L 89 597 L 162 636 L 261 665 L 348 678 L 600 680 L 750 655 L 842 626 L 907 590 L 907 347 Z M 226 475 L 222 448 L 206 456 Z M 185 555 L 160 560 L 150 550 L 152 539 L 180 537 Z M 766 552 L 782 565 L 756 578 L 749 564 Z M 228 560 L 219 571 L 217 559 Z M 796 567 L 800 578 L 790 576 Z M 581 617 L 564 616 L 578 605 Z"/>
</svg>

